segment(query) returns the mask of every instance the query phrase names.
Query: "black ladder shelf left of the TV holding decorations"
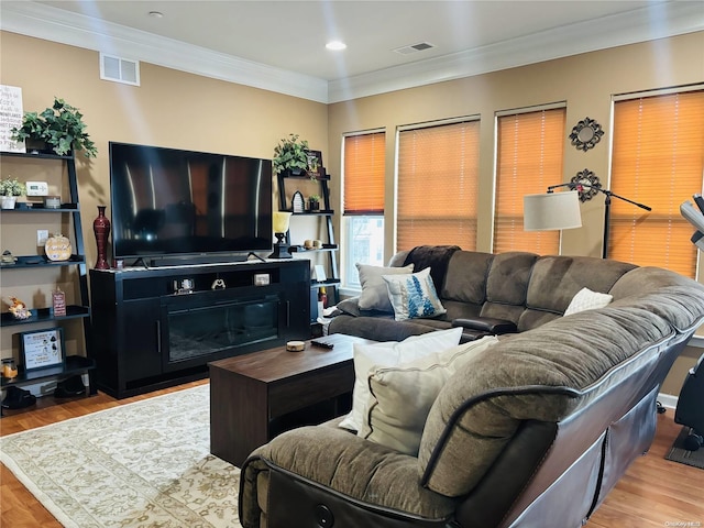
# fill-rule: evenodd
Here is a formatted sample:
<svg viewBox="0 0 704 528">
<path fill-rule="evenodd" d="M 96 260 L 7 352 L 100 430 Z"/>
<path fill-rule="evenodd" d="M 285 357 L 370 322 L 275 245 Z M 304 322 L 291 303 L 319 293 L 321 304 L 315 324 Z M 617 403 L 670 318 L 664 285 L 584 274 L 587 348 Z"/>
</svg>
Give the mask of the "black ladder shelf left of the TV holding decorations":
<svg viewBox="0 0 704 528">
<path fill-rule="evenodd" d="M 50 382 L 52 380 L 64 380 L 77 374 L 88 373 L 90 375 L 89 393 L 96 394 L 97 387 L 94 383 L 95 376 L 95 361 L 88 353 L 90 343 L 90 328 L 89 317 L 90 308 L 88 300 L 88 278 L 86 273 L 86 256 L 84 252 L 84 237 L 82 227 L 80 222 L 80 205 L 78 201 L 78 183 L 76 178 L 76 161 L 74 154 L 66 156 L 59 156 L 55 154 L 25 154 L 25 153 L 10 153 L 0 152 L 0 161 L 3 165 L 7 164 L 23 164 L 23 163 L 40 163 L 40 164 L 64 164 L 64 169 L 68 178 L 68 194 L 69 201 L 62 204 L 57 209 L 50 209 L 43 207 L 40 204 L 18 204 L 14 209 L 0 210 L 0 220 L 2 224 L 11 226 L 12 222 L 21 222 L 25 219 L 26 215 L 62 215 L 70 216 L 70 223 L 73 224 L 73 239 L 72 249 L 73 254 L 67 261 L 53 262 L 43 255 L 15 255 L 16 262 L 14 264 L 2 265 L 0 267 L 1 275 L 4 274 L 21 274 L 34 271 L 41 273 L 42 271 L 56 268 L 57 266 L 75 266 L 77 270 L 76 280 L 78 282 L 78 302 L 68 305 L 66 307 L 66 316 L 57 317 L 53 314 L 53 310 L 48 307 L 36 308 L 30 307 L 32 310 L 32 317 L 29 319 L 15 319 L 12 314 L 4 311 L 0 314 L 0 327 L 3 329 L 3 333 L 8 327 L 12 329 L 19 329 L 20 331 L 34 329 L 37 324 L 44 324 L 48 327 L 63 327 L 66 321 L 80 319 L 82 326 L 82 338 L 86 350 L 85 355 L 68 355 L 63 365 L 51 366 L 47 369 L 33 370 L 25 372 L 23 365 L 19 365 L 19 374 L 13 378 L 2 377 L 0 378 L 0 388 L 3 391 L 9 387 L 21 387 L 32 385 L 36 383 Z M 3 248 L 3 251 L 7 248 Z M 11 292 L 7 292 L 2 288 L 3 297 L 10 295 Z M 47 299 L 51 299 L 51 294 L 46 295 Z M 51 300 L 50 300 L 51 302 Z M 80 352 L 80 351 L 79 351 Z"/>
</svg>

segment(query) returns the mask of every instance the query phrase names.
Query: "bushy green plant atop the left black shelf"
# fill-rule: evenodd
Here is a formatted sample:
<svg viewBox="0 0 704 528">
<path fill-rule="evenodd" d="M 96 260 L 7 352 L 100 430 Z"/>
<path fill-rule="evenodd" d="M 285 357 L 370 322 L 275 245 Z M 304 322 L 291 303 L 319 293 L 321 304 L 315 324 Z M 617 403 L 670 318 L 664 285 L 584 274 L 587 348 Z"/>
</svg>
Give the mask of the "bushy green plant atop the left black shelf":
<svg viewBox="0 0 704 528">
<path fill-rule="evenodd" d="M 98 150 L 86 132 L 82 113 L 64 99 L 54 98 L 54 106 L 43 112 L 24 112 L 22 125 L 12 128 L 13 141 L 45 143 L 59 156 L 72 151 L 84 151 L 86 157 L 96 157 Z"/>
</svg>

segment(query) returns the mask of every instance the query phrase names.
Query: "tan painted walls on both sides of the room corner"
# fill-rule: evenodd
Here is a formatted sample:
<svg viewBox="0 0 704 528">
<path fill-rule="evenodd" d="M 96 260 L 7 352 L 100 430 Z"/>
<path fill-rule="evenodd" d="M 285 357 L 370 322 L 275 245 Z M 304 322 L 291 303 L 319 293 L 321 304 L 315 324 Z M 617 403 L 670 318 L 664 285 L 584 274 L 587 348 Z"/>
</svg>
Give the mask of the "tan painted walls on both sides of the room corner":
<svg viewBox="0 0 704 528">
<path fill-rule="evenodd" d="M 339 210 L 339 178 L 334 176 L 340 172 L 342 134 L 385 128 L 388 258 L 394 251 L 396 128 L 477 114 L 482 119 L 477 250 L 490 251 L 496 111 L 566 101 L 569 129 L 587 116 L 595 119 L 606 131 L 596 148 L 576 151 L 565 138 L 564 179 L 590 168 L 608 185 L 612 96 L 704 81 L 704 32 L 329 106 L 145 63 L 141 64 L 141 87 L 130 87 L 100 80 L 98 53 L 92 51 L 8 32 L 0 33 L 0 82 L 22 88 L 24 109 L 42 110 L 54 96 L 66 99 L 85 114 L 88 132 L 100 151 L 97 160 L 90 164 L 80 161 L 78 168 L 90 265 L 96 256 L 91 231 L 96 207 L 109 204 L 109 141 L 271 157 L 278 139 L 296 132 L 311 147 L 323 151 L 324 165 L 333 175 L 333 208 Z M 4 168 L 0 170 L 6 176 Z M 544 189 L 525 190 L 528 194 Z M 563 253 L 600 256 L 603 198 L 584 204 L 582 216 L 584 227 L 564 233 Z M 35 224 L 25 227 L 22 237 L 35 238 Z M 0 248 L 10 245 L 12 237 L 3 232 Z M 35 294 L 31 280 L 18 287 L 29 292 L 30 297 Z M 6 309 L 3 305 L 2 310 Z M 7 346 L 3 336 L 1 348 Z M 698 349 L 688 349 L 684 371 L 695 358 Z M 682 377 L 676 377 L 668 378 L 666 392 L 679 392 Z"/>
</svg>

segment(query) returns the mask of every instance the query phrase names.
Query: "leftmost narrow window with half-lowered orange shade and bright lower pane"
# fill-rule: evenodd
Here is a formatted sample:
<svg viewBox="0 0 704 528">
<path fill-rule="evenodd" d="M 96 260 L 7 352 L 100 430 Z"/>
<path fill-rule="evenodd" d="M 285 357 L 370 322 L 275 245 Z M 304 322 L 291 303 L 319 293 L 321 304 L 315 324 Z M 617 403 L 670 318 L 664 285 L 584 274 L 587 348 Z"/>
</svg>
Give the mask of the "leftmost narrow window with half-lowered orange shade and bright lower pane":
<svg viewBox="0 0 704 528">
<path fill-rule="evenodd" d="M 344 285 L 360 288 L 356 263 L 384 265 L 384 174 L 386 134 L 344 138 Z"/>
</svg>

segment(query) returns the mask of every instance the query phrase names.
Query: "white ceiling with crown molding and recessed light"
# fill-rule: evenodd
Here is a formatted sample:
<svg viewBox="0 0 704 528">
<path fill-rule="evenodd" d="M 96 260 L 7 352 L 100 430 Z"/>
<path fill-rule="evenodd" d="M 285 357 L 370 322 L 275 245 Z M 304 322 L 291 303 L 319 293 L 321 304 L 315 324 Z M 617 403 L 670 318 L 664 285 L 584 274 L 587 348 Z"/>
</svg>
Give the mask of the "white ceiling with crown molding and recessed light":
<svg viewBox="0 0 704 528">
<path fill-rule="evenodd" d="M 702 0 L 2 0 L 0 9 L 3 30 L 322 102 L 704 29 Z M 330 52 L 330 40 L 348 48 Z M 424 42 L 433 47 L 394 51 Z"/>
</svg>

